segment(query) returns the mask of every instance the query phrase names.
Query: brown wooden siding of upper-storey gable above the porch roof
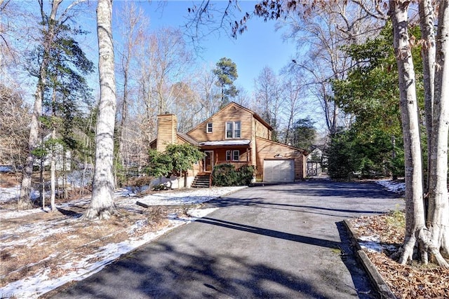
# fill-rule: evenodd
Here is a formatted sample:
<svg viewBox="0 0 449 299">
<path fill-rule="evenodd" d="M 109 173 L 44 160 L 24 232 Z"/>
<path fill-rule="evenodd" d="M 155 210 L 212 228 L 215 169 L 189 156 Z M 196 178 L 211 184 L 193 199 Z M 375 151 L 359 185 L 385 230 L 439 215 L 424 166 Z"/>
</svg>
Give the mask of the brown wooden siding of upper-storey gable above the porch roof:
<svg viewBox="0 0 449 299">
<path fill-rule="evenodd" d="M 252 119 L 253 114 L 242 109 L 241 107 L 231 104 L 219 111 L 217 114 L 206 120 L 204 123 L 201 123 L 194 130 L 190 131 L 188 134 L 190 137 L 198 140 L 199 142 L 204 141 L 217 141 L 217 140 L 225 140 L 225 130 L 226 130 L 226 122 L 227 121 L 240 121 L 241 122 L 241 132 L 239 139 L 251 139 L 252 133 Z M 212 123 L 213 132 L 206 133 L 206 125 L 207 123 Z"/>
</svg>

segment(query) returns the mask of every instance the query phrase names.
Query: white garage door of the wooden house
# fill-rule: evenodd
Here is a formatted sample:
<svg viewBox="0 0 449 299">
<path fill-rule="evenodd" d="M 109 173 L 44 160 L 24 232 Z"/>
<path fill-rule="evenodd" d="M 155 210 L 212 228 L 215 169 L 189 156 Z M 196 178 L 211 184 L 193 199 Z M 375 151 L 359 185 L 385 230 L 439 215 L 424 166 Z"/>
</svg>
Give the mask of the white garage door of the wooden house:
<svg viewBox="0 0 449 299">
<path fill-rule="evenodd" d="M 295 160 L 264 160 L 264 181 L 272 183 L 295 181 Z"/>
</svg>

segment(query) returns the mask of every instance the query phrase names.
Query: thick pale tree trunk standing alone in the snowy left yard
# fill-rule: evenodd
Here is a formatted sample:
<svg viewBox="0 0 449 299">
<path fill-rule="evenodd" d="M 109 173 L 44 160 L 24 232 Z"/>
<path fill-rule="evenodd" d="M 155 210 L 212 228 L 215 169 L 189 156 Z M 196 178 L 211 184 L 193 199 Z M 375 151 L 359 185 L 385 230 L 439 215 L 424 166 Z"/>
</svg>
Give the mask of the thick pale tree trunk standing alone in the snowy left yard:
<svg viewBox="0 0 449 299">
<path fill-rule="evenodd" d="M 116 214 L 114 204 L 114 125 L 116 83 L 114 75 L 114 45 L 112 40 L 112 0 L 99 0 L 97 6 L 98 73 L 100 103 L 95 137 L 95 169 L 92 198 L 84 219 L 109 218 Z"/>
</svg>

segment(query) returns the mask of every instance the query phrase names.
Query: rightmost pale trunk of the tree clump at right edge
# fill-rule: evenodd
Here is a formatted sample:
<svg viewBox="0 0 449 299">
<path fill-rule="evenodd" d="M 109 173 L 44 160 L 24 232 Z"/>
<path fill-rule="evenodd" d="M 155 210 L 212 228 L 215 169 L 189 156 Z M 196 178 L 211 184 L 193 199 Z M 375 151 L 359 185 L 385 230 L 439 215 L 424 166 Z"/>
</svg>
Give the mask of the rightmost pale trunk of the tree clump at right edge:
<svg viewBox="0 0 449 299">
<path fill-rule="evenodd" d="M 438 10 L 436 41 L 435 97 L 432 118 L 431 155 L 429 174 L 429 217 L 431 232 L 429 252 L 439 265 L 449 267 L 440 249 L 449 253 L 448 203 L 448 132 L 449 132 L 449 1 L 441 0 Z"/>
</svg>

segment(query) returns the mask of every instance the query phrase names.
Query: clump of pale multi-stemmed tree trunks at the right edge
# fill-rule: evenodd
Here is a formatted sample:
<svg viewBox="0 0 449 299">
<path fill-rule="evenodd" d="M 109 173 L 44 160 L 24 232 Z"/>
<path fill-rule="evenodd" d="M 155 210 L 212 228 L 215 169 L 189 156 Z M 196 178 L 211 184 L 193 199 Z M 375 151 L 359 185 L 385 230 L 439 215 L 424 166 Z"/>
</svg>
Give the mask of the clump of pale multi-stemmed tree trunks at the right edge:
<svg viewBox="0 0 449 299">
<path fill-rule="evenodd" d="M 401 97 L 401 118 L 403 125 L 404 152 L 406 158 L 406 237 L 403 244 L 403 252 L 400 263 L 413 260 L 413 249 L 416 244 L 420 246 L 421 258 L 427 263 L 428 253 L 436 259 L 438 265 L 449 267 L 441 255 L 448 253 L 448 130 L 449 111 L 449 66 L 446 65 L 445 54 L 448 52 L 448 0 L 440 1 L 438 32 L 436 35 L 436 58 L 438 67 L 435 69 L 434 78 L 434 104 L 430 112 L 431 137 L 430 137 L 430 173 L 429 173 L 429 214 L 427 225 L 424 222 L 422 159 L 420 151 L 419 119 L 417 114 L 417 98 L 415 89 L 415 72 L 408 36 L 408 6 L 410 1 L 389 1 L 390 17 L 394 29 L 394 49 L 398 64 L 399 92 Z M 431 35 L 433 29 L 429 22 L 431 7 L 423 8 L 420 4 L 421 20 L 427 34 Z M 430 3 L 427 5 L 431 6 Z M 427 13 L 423 13 L 427 11 Z M 427 22 L 427 25 L 425 24 Z M 424 31 L 425 31 L 424 30 Z M 431 39 L 429 35 L 427 39 Z M 428 41 L 428 40 L 427 40 Z M 425 55 L 429 56 L 429 54 Z M 424 57 L 424 78 L 426 81 L 427 99 L 431 97 L 432 66 L 429 65 L 433 58 Z M 427 66 L 425 65 L 427 64 Z M 430 82 L 429 82 L 430 81 Z M 427 108 L 428 109 L 428 108 Z M 429 111 L 427 111 L 429 113 Z"/>
</svg>

